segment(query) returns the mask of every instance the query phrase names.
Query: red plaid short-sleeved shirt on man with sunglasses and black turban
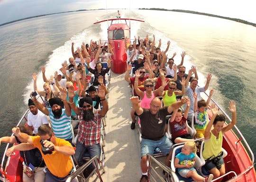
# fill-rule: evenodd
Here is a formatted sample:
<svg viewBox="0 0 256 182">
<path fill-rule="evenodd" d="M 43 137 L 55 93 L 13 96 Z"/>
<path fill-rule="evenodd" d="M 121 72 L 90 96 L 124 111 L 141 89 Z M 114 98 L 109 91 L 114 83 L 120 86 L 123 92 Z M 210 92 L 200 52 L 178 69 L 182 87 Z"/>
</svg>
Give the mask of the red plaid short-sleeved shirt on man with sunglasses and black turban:
<svg viewBox="0 0 256 182">
<path fill-rule="evenodd" d="M 84 146 L 92 146 L 100 143 L 101 141 L 101 114 L 99 110 L 93 109 L 94 119 L 91 121 L 82 120 L 81 111 L 80 122 L 79 122 L 79 131 L 78 131 L 78 141 Z"/>
</svg>

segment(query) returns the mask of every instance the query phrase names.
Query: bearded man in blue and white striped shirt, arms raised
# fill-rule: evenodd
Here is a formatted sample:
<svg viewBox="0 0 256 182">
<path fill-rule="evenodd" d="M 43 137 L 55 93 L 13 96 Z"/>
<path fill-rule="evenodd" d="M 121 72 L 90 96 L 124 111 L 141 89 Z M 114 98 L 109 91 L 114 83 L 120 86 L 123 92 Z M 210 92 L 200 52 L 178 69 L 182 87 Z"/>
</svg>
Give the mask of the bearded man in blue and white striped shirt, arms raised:
<svg viewBox="0 0 256 182">
<path fill-rule="evenodd" d="M 46 108 L 39 103 L 36 97 L 33 102 L 37 108 L 50 117 L 52 130 L 57 138 L 72 142 L 73 127 L 71 125 L 71 108 L 67 102 L 67 91 L 62 91 L 60 98 L 55 97 L 49 100 L 51 108 Z M 65 107 L 65 108 L 64 108 Z"/>
</svg>

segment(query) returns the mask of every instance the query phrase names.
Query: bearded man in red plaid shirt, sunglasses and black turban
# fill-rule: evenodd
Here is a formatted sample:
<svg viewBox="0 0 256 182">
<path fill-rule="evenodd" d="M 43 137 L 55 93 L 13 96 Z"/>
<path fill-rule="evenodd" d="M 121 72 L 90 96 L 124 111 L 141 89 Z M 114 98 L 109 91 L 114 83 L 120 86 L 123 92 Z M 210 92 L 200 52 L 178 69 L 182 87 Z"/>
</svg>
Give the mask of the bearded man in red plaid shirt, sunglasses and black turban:
<svg viewBox="0 0 256 182">
<path fill-rule="evenodd" d="M 109 110 L 108 102 L 105 99 L 105 89 L 99 85 L 99 91 L 96 90 L 97 95 L 101 98 L 102 109 L 96 110 L 92 106 L 91 97 L 84 97 L 80 99 L 79 106 L 76 107 L 73 102 L 74 91 L 69 89 L 69 103 L 73 111 L 80 115 L 80 122 L 78 127 L 78 138 L 76 141 L 75 158 L 78 164 L 82 166 L 85 162 L 82 160 L 84 153 L 87 151 L 90 157 L 101 156 L 101 119 Z M 91 171 L 93 165 L 89 165 L 87 171 Z"/>
</svg>

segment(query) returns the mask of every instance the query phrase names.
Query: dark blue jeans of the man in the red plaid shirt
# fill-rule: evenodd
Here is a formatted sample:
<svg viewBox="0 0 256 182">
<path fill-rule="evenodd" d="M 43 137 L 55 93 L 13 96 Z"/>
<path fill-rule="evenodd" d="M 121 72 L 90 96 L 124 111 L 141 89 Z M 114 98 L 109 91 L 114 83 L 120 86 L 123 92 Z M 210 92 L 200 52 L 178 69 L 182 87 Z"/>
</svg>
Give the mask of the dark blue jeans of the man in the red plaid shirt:
<svg viewBox="0 0 256 182">
<path fill-rule="evenodd" d="M 101 157 L 101 146 L 100 144 L 96 145 L 91 145 L 91 146 L 84 146 L 82 143 L 80 143 L 77 139 L 76 141 L 76 149 L 75 149 L 75 158 L 78 162 L 79 166 L 82 166 L 85 161 L 82 160 L 82 157 L 88 153 L 90 158 L 94 156 L 98 156 L 99 158 Z M 88 166 L 89 168 L 94 168 L 93 164 Z"/>
</svg>

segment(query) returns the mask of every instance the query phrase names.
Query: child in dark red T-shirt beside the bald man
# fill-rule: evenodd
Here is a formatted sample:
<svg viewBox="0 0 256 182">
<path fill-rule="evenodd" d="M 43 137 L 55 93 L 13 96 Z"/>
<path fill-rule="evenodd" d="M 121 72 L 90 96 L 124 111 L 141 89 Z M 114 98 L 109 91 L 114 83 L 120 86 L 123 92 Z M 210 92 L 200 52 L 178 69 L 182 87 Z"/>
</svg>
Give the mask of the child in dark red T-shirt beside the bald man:
<svg viewBox="0 0 256 182">
<path fill-rule="evenodd" d="M 190 101 L 187 102 L 187 107 L 182 115 L 182 110 L 174 110 L 170 118 L 170 128 L 172 133 L 172 140 L 174 143 L 182 143 L 192 139 L 192 136 L 187 131 L 186 121 L 188 118 L 188 112 L 190 107 Z"/>
</svg>

